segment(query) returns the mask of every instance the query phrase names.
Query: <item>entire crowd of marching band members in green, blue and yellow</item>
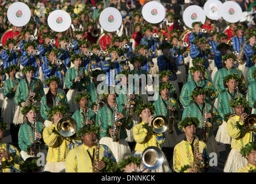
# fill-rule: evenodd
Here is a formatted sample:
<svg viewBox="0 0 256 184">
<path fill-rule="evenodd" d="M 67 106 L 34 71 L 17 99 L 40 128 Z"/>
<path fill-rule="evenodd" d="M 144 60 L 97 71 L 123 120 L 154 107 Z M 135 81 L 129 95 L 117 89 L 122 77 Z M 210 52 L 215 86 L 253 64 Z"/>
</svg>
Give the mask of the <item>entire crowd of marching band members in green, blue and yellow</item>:
<svg viewBox="0 0 256 184">
<path fill-rule="evenodd" d="M 209 154 L 219 157 L 217 142 L 229 152 L 224 172 L 255 172 L 255 132 L 244 127 L 256 108 L 255 29 L 237 23 L 216 32 L 207 20 L 205 25 L 194 22 L 184 39 L 173 13 L 160 24 L 149 24 L 133 11 L 120 30 L 106 32 L 98 29 L 102 3 L 91 11 L 79 2 L 63 5 L 72 17 L 66 32 L 47 25 L 56 6 L 51 1 L 45 16 L 37 16 L 29 4 L 32 17 L 26 26 L 5 27 L 1 172 L 207 172 Z M 1 25 L 7 24 L 9 5 L 0 7 Z M 108 86 L 104 94 L 97 91 L 101 74 Z M 114 81 L 117 74 L 123 75 Z M 135 84 L 142 84 L 137 77 L 129 91 L 124 86 L 131 74 L 159 74 L 152 80 L 159 85 L 140 85 L 135 91 Z M 121 92 L 110 93 L 113 86 Z M 152 92 L 158 98 L 148 100 Z M 77 132 L 64 137 L 58 122 L 66 116 L 74 118 Z M 174 125 L 155 132 L 156 116 Z M 121 127 L 114 141 L 116 121 Z M 12 143 L 6 144 L 3 132 L 9 128 Z M 184 139 L 179 142 L 180 133 Z M 36 167 L 36 141 L 44 167 Z M 164 162 L 145 170 L 140 156 L 151 146 L 163 151 Z M 204 167 L 196 167 L 200 162 Z"/>
</svg>

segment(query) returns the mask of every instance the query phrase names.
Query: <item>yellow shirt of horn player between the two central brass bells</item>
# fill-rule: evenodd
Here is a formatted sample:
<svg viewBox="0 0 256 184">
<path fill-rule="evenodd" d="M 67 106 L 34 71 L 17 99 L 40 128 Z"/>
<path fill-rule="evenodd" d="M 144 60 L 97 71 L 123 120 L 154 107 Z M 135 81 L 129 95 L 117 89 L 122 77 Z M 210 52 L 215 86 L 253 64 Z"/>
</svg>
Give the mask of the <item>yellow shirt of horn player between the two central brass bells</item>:
<svg viewBox="0 0 256 184">
<path fill-rule="evenodd" d="M 147 147 L 155 146 L 158 148 L 160 144 L 165 141 L 165 135 L 159 133 L 155 135 L 154 133 L 148 133 L 146 128 L 143 128 L 145 122 L 141 122 L 140 124 L 132 127 L 132 135 L 134 140 L 136 141 L 135 151 L 144 151 Z"/>
</svg>

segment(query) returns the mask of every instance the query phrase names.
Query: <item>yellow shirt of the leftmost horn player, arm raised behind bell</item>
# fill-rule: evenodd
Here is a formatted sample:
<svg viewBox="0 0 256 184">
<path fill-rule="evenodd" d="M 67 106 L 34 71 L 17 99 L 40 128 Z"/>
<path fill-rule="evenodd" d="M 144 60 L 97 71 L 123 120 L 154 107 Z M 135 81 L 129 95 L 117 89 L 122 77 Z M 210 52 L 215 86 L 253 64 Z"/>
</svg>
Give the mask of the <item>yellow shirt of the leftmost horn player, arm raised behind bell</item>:
<svg viewBox="0 0 256 184">
<path fill-rule="evenodd" d="M 46 127 L 43 131 L 44 142 L 48 145 L 46 160 L 48 162 L 64 162 L 68 151 L 74 147 L 74 143 L 71 142 L 70 138 L 64 139 L 65 137 L 52 132 L 54 128 L 57 130 L 57 126 L 52 124 L 51 127 Z"/>
</svg>

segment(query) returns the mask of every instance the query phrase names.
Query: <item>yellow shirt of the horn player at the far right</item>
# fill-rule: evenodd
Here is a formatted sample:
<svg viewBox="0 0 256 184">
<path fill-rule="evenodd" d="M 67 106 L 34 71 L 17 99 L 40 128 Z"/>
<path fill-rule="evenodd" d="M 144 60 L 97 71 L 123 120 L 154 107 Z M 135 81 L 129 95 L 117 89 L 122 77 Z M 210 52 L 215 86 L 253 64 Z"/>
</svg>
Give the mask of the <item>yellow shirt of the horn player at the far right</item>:
<svg viewBox="0 0 256 184">
<path fill-rule="evenodd" d="M 231 148 L 240 150 L 244 145 L 253 141 L 253 132 L 248 131 L 245 128 L 239 129 L 236 124 L 243 125 L 242 121 L 239 121 L 240 116 L 233 116 L 227 121 L 228 135 L 232 138 Z"/>
</svg>

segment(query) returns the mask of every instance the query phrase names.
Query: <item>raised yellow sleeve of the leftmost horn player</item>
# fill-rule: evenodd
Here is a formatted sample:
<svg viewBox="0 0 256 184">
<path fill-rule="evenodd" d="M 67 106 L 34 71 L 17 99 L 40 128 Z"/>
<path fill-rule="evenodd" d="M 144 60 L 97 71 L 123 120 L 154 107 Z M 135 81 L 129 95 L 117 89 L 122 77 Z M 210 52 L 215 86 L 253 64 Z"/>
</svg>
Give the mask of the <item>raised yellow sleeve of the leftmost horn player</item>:
<svg viewBox="0 0 256 184">
<path fill-rule="evenodd" d="M 61 139 L 59 135 L 52 132 L 53 129 L 54 125 L 45 128 L 43 131 L 44 143 L 47 144 L 49 147 L 54 147 L 55 144 L 58 144 L 58 139 Z"/>
</svg>

